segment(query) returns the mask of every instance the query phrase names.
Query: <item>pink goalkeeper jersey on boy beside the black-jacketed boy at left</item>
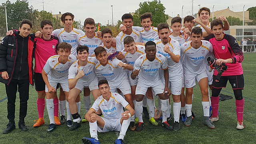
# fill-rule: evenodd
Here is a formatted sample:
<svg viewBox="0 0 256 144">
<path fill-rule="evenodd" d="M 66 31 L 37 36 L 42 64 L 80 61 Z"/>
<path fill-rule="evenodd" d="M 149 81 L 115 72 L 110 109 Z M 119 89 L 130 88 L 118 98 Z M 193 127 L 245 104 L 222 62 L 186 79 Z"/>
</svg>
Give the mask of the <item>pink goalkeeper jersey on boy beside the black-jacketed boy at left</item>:
<svg viewBox="0 0 256 144">
<path fill-rule="evenodd" d="M 57 54 L 58 41 L 56 36 L 51 36 L 49 40 L 42 38 L 35 38 L 35 72 L 42 73 L 44 65 L 48 58 Z"/>
</svg>

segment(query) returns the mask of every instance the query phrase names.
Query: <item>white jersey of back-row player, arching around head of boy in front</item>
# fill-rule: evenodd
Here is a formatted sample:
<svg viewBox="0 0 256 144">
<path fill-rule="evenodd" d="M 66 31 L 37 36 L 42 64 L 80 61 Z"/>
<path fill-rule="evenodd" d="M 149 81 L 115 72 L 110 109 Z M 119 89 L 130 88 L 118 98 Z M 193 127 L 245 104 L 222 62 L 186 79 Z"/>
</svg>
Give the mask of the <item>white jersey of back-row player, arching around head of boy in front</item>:
<svg viewBox="0 0 256 144">
<path fill-rule="evenodd" d="M 136 30 L 132 30 L 131 34 L 124 34 L 124 32 L 120 32 L 118 36 L 116 36 L 116 51 L 121 52 L 124 49 L 124 38 L 126 36 L 131 36 L 134 39 L 134 42 L 142 42 L 140 32 Z"/>
</svg>

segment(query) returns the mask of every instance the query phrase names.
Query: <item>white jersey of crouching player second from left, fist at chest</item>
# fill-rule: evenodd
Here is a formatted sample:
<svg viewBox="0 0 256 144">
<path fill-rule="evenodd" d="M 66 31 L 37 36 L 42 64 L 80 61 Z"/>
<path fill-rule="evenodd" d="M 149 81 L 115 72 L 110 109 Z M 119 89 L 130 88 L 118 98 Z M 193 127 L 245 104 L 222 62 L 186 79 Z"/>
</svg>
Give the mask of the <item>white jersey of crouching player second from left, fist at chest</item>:
<svg viewBox="0 0 256 144">
<path fill-rule="evenodd" d="M 79 80 L 91 82 L 96 78 L 96 73 L 94 72 L 94 67 L 98 60 L 95 57 L 88 57 L 87 64 L 85 66 L 79 66 L 79 60 L 76 60 L 68 70 L 68 80 L 72 80 L 76 77 L 80 70 L 84 71 L 84 76 Z"/>
</svg>

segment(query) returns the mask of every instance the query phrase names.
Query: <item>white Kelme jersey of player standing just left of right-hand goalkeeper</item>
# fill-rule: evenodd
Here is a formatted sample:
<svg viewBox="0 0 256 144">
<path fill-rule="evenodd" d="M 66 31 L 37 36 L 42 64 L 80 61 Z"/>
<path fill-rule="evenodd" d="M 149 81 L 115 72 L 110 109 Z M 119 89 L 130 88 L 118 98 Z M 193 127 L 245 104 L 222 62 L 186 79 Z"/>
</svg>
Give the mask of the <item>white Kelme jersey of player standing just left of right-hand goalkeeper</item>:
<svg viewBox="0 0 256 144">
<path fill-rule="evenodd" d="M 182 59 L 184 57 L 183 68 L 185 73 L 202 74 L 206 71 L 206 59 L 213 52 L 212 44 L 206 40 L 201 40 L 200 48 L 193 48 L 192 41 L 185 42 L 181 45 Z"/>
</svg>

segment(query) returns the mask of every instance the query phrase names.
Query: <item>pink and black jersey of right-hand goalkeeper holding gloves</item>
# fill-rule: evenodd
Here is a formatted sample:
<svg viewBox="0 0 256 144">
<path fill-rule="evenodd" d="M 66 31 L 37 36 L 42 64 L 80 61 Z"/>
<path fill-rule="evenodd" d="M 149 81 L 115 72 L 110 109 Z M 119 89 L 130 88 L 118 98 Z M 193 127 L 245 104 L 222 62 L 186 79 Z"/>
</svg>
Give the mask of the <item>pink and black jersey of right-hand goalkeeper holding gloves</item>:
<svg viewBox="0 0 256 144">
<path fill-rule="evenodd" d="M 242 61 L 244 60 L 244 54 L 239 47 L 236 38 L 231 35 L 224 34 L 222 40 L 216 40 L 214 34 L 206 36 L 204 40 L 208 40 L 212 43 L 214 55 L 217 59 L 232 58 L 233 62 L 226 64 L 228 70 L 222 73 L 222 76 L 236 76 L 243 74 Z M 218 74 L 217 70 L 214 70 L 214 75 Z"/>
</svg>

